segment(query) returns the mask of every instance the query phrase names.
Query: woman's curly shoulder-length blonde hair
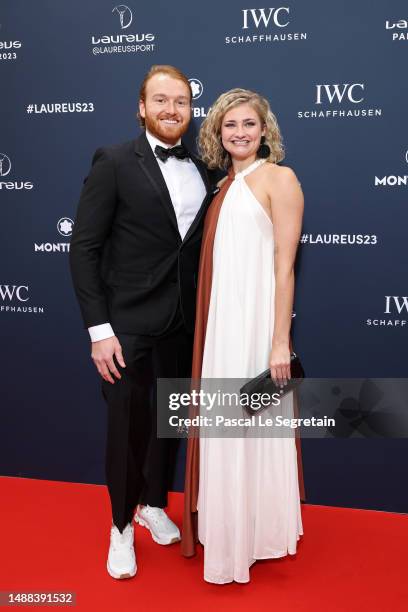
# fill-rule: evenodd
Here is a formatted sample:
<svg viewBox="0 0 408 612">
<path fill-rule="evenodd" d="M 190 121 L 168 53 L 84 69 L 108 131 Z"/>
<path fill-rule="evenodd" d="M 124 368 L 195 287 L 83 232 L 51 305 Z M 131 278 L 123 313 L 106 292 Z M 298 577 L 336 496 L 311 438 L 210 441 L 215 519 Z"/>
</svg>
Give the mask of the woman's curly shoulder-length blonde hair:
<svg viewBox="0 0 408 612">
<path fill-rule="evenodd" d="M 279 162 L 285 157 L 278 122 L 268 100 L 249 89 L 236 88 L 220 95 L 201 125 L 198 148 L 209 168 L 227 169 L 231 165 L 231 156 L 222 146 L 221 124 L 225 114 L 241 104 L 252 106 L 265 126 L 265 144 L 270 148 L 268 161 Z"/>
</svg>

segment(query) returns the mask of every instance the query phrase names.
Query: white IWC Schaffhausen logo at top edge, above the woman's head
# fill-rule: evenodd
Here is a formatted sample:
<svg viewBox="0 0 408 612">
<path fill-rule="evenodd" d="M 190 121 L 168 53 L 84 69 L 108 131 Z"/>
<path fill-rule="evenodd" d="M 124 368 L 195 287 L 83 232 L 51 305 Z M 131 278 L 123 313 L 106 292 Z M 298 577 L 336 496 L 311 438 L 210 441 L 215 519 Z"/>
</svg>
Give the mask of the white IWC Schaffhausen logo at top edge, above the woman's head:
<svg viewBox="0 0 408 612">
<path fill-rule="evenodd" d="M 289 32 L 288 6 L 241 9 L 241 32 L 225 37 L 225 44 L 271 43 L 306 40 L 306 32 Z M 242 30 L 244 30 L 242 32 Z M 251 33 L 255 32 L 255 33 Z"/>
</svg>

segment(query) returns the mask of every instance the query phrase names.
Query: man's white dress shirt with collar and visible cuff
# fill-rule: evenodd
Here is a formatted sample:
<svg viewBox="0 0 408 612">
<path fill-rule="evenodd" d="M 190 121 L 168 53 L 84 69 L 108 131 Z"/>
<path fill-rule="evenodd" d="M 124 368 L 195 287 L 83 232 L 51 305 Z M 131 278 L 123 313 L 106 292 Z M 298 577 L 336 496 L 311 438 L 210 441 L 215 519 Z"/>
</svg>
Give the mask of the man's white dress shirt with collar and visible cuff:
<svg viewBox="0 0 408 612">
<path fill-rule="evenodd" d="M 153 152 L 156 145 L 160 145 L 165 149 L 169 148 L 169 145 L 158 140 L 147 130 L 146 138 Z M 176 145 L 180 143 L 181 140 Z M 206 194 L 203 180 L 195 163 L 189 157 L 186 159 L 169 157 L 167 161 L 163 162 L 156 155 L 156 159 L 170 193 L 181 239 L 184 240 Z M 92 342 L 106 340 L 106 338 L 111 338 L 115 335 L 110 323 L 94 325 L 89 327 L 88 331 Z"/>
</svg>

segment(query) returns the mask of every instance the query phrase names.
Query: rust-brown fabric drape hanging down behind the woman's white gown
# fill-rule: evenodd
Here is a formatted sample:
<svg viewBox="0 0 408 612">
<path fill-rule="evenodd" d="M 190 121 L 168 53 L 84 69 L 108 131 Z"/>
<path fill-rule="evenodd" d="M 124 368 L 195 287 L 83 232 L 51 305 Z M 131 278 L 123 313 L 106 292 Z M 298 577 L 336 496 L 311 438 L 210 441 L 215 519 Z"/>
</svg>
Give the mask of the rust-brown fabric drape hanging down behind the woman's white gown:
<svg viewBox="0 0 408 612">
<path fill-rule="evenodd" d="M 233 180 L 234 174 L 230 170 L 226 181 L 221 187 L 221 190 L 211 202 L 204 222 L 204 232 L 198 272 L 197 312 L 194 331 L 193 366 L 191 375 L 193 384 L 195 381 L 199 381 L 199 379 L 201 378 L 205 332 L 207 328 L 208 310 L 210 306 L 211 296 L 213 246 L 215 232 L 217 229 L 217 222 L 222 203 Z M 297 417 L 298 407 L 296 402 L 296 393 L 294 394 L 294 397 L 294 416 Z M 196 410 L 196 413 L 198 414 L 198 409 Z M 192 414 L 192 416 L 194 416 L 194 413 Z M 197 431 L 193 431 L 192 435 L 191 429 L 190 436 L 191 437 L 189 437 L 187 445 L 186 477 L 184 485 L 183 532 L 181 538 L 181 553 L 185 557 L 192 557 L 193 555 L 195 555 L 195 547 L 196 543 L 198 542 L 197 499 L 200 468 L 200 438 Z M 300 439 L 298 437 L 296 437 L 296 450 L 298 457 L 300 498 L 304 500 L 305 492 L 303 483 L 302 456 L 300 449 Z"/>
</svg>

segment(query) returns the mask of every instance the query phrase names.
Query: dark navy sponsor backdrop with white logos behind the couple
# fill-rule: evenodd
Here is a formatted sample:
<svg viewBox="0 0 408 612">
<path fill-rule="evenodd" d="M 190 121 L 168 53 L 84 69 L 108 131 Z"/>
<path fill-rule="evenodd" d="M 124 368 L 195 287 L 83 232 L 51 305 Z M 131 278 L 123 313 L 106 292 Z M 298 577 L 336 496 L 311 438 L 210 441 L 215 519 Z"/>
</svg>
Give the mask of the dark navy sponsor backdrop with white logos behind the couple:
<svg viewBox="0 0 408 612">
<path fill-rule="evenodd" d="M 152 64 L 190 79 L 192 145 L 233 87 L 278 117 L 305 194 L 293 336 L 307 375 L 407 376 L 407 55 L 403 0 L 2 1 L 2 475 L 104 482 L 69 243 L 93 152 L 139 133 Z M 350 431 L 303 441 L 307 501 L 406 512 L 407 440 Z"/>
</svg>

